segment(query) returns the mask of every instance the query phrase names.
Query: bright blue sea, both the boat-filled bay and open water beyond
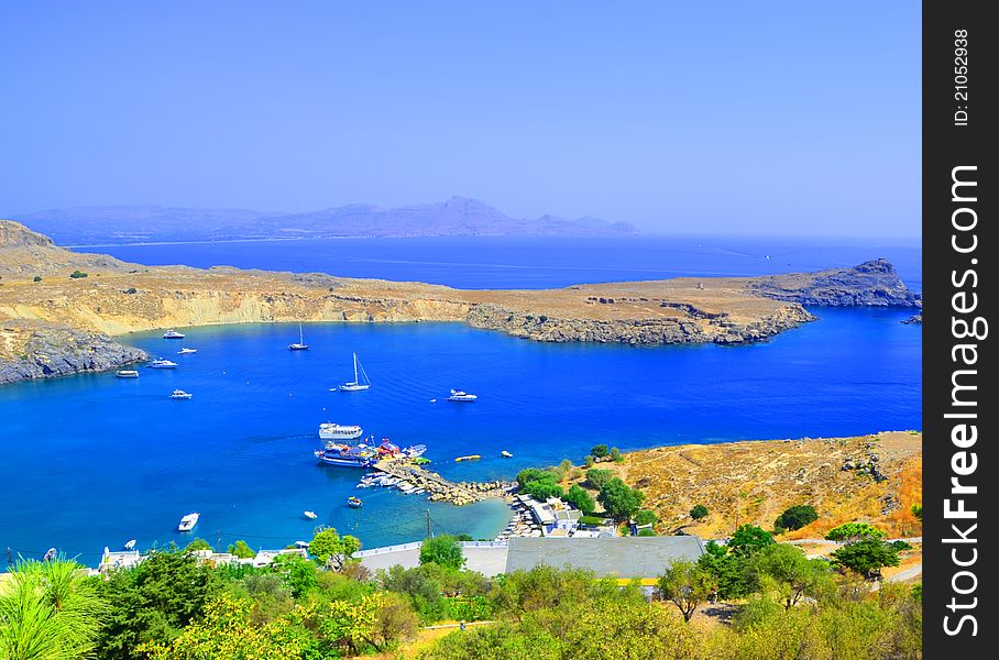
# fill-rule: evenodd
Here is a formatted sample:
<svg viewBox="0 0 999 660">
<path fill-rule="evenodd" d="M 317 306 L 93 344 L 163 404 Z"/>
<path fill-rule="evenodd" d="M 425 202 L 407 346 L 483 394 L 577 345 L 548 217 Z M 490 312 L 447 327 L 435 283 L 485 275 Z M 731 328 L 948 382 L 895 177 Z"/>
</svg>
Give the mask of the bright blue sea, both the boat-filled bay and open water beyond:
<svg viewBox="0 0 999 660">
<path fill-rule="evenodd" d="M 684 241 L 413 239 L 107 251 L 144 263 L 519 288 L 753 275 L 888 256 L 919 288 L 918 248 Z M 505 526 L 501 502 L 453 507 L 355 490 L 363 471 L 317 465 L 311 455 L 322 421 L 425 443 L 431 468 L 454 480 L 581 462 L 596 443 L 632 450 L 921 428 L 921 329 L 899 322 L 910 312 L 812 311 L 819 321 L 742 346 L 544 344 L 457 323 L 309 323 L 305 352 L 286 350 L 297 324 L 191 328 L 183 341 L 127 336 L 179 369 L 0 387 L 0 550 L 40 557 L 54 546 L 94 564 L 105 546 L 131 538 L 140 549 L 195 536 L 223 549 L 235 539 L 277 548 L 308 539 L 317 522 L 376 547 L 421 538 L 428 510 L 437 532 L 492 538 Z M 175 355 L 180 345 L 198 353 Z M 352 377 L 352 352 L 372 388 L 330 392 Z M 169 399 L 176 387 L 194 398 Z M 451 387 L 480 398 L 447 403 Z M 514 458 L 501 459 L 502 450 Z M 482 459 L 453 461 L 471 453 Z M 363 508 L 345 506 L 354 494 Z M 306 509 L 319 519 L 305 520 Z M 191 510 L 201 513 L 196 530 L 175 532 Z"/>
</svg>

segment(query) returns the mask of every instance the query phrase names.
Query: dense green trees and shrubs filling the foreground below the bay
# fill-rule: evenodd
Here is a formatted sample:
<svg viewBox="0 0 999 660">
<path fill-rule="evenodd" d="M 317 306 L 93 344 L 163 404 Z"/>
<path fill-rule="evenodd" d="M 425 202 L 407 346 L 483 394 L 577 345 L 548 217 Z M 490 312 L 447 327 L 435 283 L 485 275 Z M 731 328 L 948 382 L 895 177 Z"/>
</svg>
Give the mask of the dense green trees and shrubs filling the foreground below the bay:
<svg viewBox="0 0 999 660">
<path fill-rule="evenodd" d="M 315 559 L 264 568 L 213 566 L 177 548 L 107 579 L 66 560 L 22 562 L 0 586 L 0 658 L 921 658 L 921 590 L 863 579 L 886 549 L 897 556 L 878 534 L 845 527 L 849 541 L 828 562 L 745 525 L 696 563 L 662 566 L 652 602 L 638 581 L 578 569 L 486 579 L 463 568 L 453 537 L 427 541 L 416 568 L 372 574 L 352 558 L 360 541 L 329 528 L 316 531 Z M 716 601 L 729 603 L 728 623 L 712 618 Z M 404 650 L 443 620 L 485 623 Z"/>
</svg>

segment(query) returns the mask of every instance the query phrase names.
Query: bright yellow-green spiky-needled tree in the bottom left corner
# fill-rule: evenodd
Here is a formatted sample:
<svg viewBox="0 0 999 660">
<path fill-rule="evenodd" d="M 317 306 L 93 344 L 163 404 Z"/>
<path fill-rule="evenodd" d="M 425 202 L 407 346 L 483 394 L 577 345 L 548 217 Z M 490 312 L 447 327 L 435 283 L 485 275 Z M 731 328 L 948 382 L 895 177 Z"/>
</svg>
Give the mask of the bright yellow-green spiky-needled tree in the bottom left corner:
<svg viewBox="0 0 999 660">
<path fill-rule="evenodd" d="M 90 657 L 108 606 L 74 561 L 21 561 L 0 583 L 0 658 Z"/>
</svg>

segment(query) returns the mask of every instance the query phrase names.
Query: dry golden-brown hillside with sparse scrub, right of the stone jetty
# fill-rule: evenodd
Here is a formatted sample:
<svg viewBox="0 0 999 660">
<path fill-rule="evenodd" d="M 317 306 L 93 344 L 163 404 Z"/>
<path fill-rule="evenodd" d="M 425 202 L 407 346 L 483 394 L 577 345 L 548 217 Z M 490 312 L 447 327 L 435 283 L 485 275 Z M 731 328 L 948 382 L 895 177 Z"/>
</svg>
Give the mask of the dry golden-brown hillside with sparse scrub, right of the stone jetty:
<svg viewBox="0 0 999 660">
<path fill-rule="evenodd" d="M 898 537 L 921 534 L 910 507 L 922 502 L 922 433 L 663 447 L 597 466 L 640 488 L 663 531 L 721 538 L 736 521 L 771 529 L 787 507 L 811 504 L 819 520 L 784 538 L 821 538 L 850 520 Z M 694 524 L 689 512 L 698 504 L 711 513 Z"/>
</svg>

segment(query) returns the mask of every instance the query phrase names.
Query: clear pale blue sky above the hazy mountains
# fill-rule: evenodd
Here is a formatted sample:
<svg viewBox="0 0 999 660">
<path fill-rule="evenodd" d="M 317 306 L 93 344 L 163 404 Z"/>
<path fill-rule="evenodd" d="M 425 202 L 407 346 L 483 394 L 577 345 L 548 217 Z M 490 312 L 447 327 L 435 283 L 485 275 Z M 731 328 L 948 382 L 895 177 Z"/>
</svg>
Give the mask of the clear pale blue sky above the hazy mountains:
<svg viewBox="0 0 999 660">
<path fill-rule="evenodd" d="M 452 195 L 916 237 L 911 2 L 3 2 L 0 217 Z"/>
</svg>

